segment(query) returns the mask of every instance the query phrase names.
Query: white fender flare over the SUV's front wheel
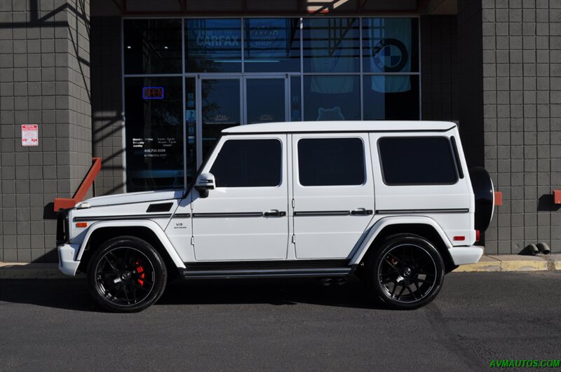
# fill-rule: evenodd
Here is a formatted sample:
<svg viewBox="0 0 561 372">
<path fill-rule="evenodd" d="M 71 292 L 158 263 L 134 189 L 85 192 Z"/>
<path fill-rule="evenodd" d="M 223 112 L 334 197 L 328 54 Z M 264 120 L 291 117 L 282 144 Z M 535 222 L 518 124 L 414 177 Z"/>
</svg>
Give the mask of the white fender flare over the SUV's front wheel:
<svg viewBox="0 0 561 372">
<path fill-rule="evenodd" d="M 173 263 L 175 263 L 175 266 L 177 266 L 177 268 L 185 268 L 185 264 L 183 263 L 179 254 L 177 254 L 177 251 L 175 251 L 175 248 L 173 247 L 173 244 L 171 244 L 170 240 L 165 235 L 162 228 L 158 225 L 158 223 L 156 223 L 154 221 L 151 221 L 151 220 L 148 220 L 148 219 L 147 220 L 135 220 L 135 221 L 98 221 L 98 222 L 93 223 L 90 226 L 90 228 L 88 228 L 88 232 L 86 233 L 86 236 L 83 238 L 83 240 L 80 244 L 80 248 L 78 249 L 78 254 L 76 255 L 76 261 L 81 261 L 82 254 L 83 254 L 84 250 L 86 249 L 86 245 L 88 244 L 88 241 L 90 240 L 90 237 L 93 234 L 93 232 L 95 230 L 99 230 L 100 228 L 109 228 L 109 227 L 111 227 L 111 228 L 115 228 L 115 227 L 148 228 L 149 230 L 152 231 L 152 233 L 154 233 L 154 235 L 156 235 L 158 240 L 160 240 L 163 248 L 165 249 L 165 252 L 168 252 L 168 255 L 170 256 L 170 259 L 173 261 Z"/>
</svg>

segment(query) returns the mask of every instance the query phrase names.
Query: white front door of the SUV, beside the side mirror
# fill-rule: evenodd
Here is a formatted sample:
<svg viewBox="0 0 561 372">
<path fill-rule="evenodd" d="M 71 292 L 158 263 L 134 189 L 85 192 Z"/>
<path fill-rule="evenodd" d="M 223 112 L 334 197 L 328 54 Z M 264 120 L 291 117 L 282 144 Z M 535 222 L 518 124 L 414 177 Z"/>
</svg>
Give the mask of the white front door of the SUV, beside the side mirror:
<svg viewBox="0 0 561 372">
<path fill-rule="evenodd" d="M 224 137 L 203 172 L 216 188 L 192 191 L 196 261 L 286 259 L 287 135 Z"/>
</svg>

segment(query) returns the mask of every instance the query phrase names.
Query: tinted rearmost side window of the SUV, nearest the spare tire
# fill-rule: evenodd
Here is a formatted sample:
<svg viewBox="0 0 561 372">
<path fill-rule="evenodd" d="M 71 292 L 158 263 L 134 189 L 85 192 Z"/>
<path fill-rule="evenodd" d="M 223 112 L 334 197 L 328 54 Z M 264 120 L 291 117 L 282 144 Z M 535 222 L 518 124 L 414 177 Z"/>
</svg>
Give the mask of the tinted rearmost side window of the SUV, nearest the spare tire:
<svg viewBox="0 0 561 372">
<path fill-rule="evenodd" d="M 386 137 L 378 142 L 386 185 L 454 184 L 456 168 L 446 137 Z"/>
</svg>

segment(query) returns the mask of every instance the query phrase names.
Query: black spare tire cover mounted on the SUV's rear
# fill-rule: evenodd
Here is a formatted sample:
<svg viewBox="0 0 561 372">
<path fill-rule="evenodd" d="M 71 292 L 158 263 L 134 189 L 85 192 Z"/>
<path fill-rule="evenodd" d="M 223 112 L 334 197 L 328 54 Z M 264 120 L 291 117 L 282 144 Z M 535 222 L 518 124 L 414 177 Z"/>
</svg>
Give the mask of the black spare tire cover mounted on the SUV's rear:
<svg viewBox="0 0 561 372">
<path fill-rule="evenodd" d="M 485 231 L 493 218 L 493 181 L 483 167 L 471 168 L 469 177 L 475 195 L 475 230 Z"/>
</svg>

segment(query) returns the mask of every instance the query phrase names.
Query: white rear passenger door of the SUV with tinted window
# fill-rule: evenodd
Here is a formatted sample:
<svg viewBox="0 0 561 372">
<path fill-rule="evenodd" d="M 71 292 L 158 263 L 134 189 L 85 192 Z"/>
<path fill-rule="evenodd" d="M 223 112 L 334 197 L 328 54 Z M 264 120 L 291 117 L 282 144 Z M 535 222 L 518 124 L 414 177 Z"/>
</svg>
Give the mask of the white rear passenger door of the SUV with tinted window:
<svg viewBox="0 0 561 372">
<path fill-rule="evenodd" d="M 345 259 L 372 220 L 366 134 L 292 135 L 297 259 Z"/>
</svg>

